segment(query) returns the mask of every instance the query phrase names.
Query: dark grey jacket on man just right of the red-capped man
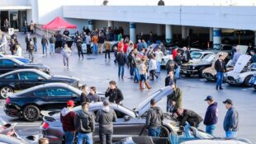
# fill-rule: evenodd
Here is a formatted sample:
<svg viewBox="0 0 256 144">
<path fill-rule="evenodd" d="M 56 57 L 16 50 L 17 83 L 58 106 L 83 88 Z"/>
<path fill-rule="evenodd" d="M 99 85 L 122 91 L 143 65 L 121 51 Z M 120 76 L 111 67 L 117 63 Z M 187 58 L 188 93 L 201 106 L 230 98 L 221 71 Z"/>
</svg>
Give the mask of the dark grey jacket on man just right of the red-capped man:
<svg viewBox="0 0 256 144">
<path fill-rule="evenodd" d="M 95 119 L 88 111 L 81 110 L 74 117 L 74 126 L 77 132 L 90 133 L 94 131 Z"/>
</svg>

